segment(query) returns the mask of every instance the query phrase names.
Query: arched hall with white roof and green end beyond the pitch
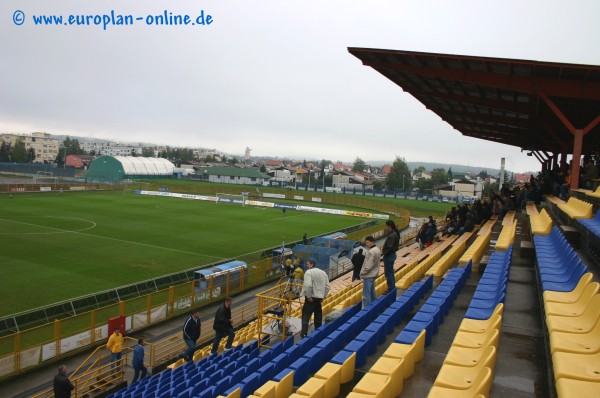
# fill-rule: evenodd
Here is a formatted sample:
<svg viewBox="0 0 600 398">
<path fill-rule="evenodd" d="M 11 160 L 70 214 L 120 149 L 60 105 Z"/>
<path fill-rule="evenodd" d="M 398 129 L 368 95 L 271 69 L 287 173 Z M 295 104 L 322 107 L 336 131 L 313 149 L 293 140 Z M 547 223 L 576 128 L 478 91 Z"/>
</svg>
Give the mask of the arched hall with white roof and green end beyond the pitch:
<svg viewBox="0 0 600 398">
<path fill-rule="evenodd" d="M 100 156 L 90 164 L 85 178 L 90 181 L 122 181 L 134 178 L 171 178 L 175 165 L 163 158 Z"/>
</svg>

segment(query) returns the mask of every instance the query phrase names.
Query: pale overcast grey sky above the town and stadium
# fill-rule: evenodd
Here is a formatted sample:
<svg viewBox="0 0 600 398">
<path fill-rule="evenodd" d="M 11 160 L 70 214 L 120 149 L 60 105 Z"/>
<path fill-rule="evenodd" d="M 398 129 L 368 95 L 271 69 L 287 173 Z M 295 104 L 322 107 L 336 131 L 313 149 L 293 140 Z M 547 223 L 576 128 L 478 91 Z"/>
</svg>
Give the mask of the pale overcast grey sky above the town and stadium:
<svg viewBox="0 0 600 398">
<path fill-rule="evenodd" d="M 154 24 L 165 12 L 194 24 Z M 600 65 L 599 15 L 597 0 L 2 0 L 0 133 L 536 171 L 520 148 L 463 137 L 347 48 Z"/>
</svg>

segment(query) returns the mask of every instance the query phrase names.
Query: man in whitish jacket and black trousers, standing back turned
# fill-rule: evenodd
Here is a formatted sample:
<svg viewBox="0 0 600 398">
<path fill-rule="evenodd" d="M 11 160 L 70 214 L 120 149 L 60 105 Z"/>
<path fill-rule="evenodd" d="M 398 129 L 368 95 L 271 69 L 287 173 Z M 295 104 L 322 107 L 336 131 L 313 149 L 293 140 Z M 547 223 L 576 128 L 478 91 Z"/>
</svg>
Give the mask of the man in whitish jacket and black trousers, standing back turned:
<svg viewBox="0 0 600 398">
<path fill-rule="evenodd" d="M 329 277 L 322 269 L 316 268 L 317 260 L 309 258 L 306 262 L 306 272 L 304 273 L 304 284 L 302 286 L 301 296 L 304 297 L 302 306 L 302 331 L 301 337 L 308 334 L 308 323 L 310 317 L 315 315 L 315 329 L 323 323 L 323 311 L 321 302 L 329 294 Z"/>
</svg>

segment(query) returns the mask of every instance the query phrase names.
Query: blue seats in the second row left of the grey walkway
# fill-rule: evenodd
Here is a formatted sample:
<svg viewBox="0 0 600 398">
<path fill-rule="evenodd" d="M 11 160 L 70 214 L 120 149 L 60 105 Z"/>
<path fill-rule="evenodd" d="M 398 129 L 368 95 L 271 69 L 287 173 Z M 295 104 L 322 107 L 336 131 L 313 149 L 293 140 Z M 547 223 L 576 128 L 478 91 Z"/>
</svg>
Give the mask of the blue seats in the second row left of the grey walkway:
<svg viewBox="0 0 600 398">
<path fill-rule="evenodd" d="M 471 262 L 468 262 L 465 267 L 453 268 L 448 272 L 448 275 L 437 286 L 394 342 L 412 344 L 421 331 L 425 329 L 425 346 L 431 345 L 433 336 L 438 332 L 439 325 L 444 322 L 444 318 L 450 313 L 454 300 L 471 274 L 471 264 Z"/>
</svg>

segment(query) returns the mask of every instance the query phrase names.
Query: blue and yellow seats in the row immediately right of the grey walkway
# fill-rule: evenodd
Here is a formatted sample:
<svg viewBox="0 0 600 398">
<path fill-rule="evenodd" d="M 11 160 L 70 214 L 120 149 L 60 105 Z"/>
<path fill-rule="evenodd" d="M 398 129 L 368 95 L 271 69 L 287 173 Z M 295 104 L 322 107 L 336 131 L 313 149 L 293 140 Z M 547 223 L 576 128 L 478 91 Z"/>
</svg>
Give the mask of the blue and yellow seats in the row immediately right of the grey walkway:
<svg viewBox="0 0 600 398">
<path fill-rule="evenodd" d="M 534 241 L 558 396 L 597 396 L 600 285 L 558 228 Z"/>
</svg>

